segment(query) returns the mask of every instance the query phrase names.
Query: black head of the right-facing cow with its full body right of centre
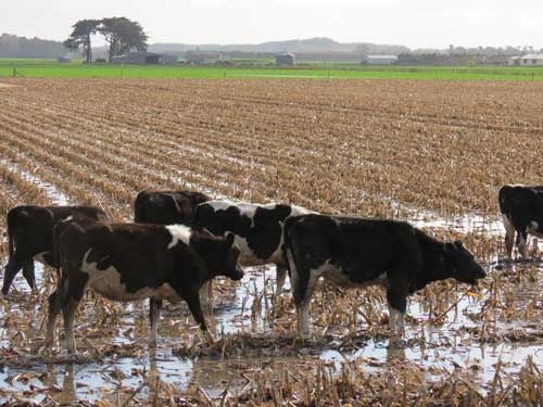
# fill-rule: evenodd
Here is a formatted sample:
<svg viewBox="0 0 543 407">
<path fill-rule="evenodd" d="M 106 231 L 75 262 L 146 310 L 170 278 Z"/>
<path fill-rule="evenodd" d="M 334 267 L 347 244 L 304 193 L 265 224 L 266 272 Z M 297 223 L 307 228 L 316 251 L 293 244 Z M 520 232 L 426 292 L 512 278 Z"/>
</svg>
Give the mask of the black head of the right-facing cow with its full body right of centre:
<svg viewBox="0 0 543 407">
<path fill-rule="evenodd" d="M 447 277 L 468 284 L 476 284 L 477 280 L 487 277 L 483 268 L 460 241 L 444 243 L 443 252 Z"/>
</svg>

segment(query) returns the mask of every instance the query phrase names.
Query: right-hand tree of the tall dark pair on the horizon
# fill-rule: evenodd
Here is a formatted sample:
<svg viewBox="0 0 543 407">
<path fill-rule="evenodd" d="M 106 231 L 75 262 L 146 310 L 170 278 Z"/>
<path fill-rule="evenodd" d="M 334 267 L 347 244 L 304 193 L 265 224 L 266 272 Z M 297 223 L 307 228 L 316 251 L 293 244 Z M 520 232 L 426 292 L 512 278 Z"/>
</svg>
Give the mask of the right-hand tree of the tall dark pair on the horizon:
<svg viewBox="0 0 543 407">
<path fill-rule="evenodd" d="M 121 55 L 132 50 L 147 50 L 148 36 L 138 22 L 126 17 L 103 18 L 98 30 L 109 43 L 109 61 L 115 55 Z"/>
</svg>

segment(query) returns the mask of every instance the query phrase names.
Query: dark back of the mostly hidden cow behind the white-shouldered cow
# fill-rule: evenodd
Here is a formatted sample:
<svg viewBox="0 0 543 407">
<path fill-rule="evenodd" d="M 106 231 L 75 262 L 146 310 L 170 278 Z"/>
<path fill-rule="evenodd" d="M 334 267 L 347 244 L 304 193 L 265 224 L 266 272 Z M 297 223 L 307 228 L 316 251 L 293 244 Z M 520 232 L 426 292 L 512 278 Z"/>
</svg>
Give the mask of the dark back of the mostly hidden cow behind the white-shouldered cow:
<svg viewBox="0 0 543 407">
<path fill-rule="evenodd" d="M 194 191 L 141 191 L 134 202 L 134 221 L 190 227 L 194 208 L 206 201 L 207 195 Z"/>
</svg>

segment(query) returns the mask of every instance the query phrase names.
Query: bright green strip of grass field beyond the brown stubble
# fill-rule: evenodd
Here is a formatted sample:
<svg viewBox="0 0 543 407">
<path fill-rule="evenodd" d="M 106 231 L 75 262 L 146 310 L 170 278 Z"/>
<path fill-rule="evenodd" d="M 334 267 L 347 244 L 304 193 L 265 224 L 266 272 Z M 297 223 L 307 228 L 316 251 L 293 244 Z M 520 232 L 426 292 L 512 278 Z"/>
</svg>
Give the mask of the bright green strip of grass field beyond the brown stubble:
<svg viewBox="0 0 543 407">
<path fill-rule="evenodd" d="M 543 80 L 543 67 L 364 66 L 323 63 L 278 67 L 59 64 L 53 60 L 2 60 L 0 77 L 29 78 L 379 78 Z"/>
</svg>

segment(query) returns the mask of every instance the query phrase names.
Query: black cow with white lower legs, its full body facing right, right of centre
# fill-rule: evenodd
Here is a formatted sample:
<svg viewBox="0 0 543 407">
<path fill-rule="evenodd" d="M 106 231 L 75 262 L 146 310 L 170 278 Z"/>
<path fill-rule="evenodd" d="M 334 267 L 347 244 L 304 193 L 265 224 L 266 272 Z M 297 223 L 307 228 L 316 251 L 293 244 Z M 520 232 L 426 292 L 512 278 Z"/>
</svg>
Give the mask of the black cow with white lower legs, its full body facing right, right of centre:
<svg viewBox="0 0 543 407">
<path fill-rule="evenodd" d="M 308 307 L 319 277 L 340 287 L 383 285 L 390 326 L 403 334 L 407 295 L 432 281 L 475 284 L 485 276 L 460 242 L 443 243 L 394 220 L 292 217 L 285 225 L 285 250 L 301 338 L 310 333 Z"/>
</svg>

